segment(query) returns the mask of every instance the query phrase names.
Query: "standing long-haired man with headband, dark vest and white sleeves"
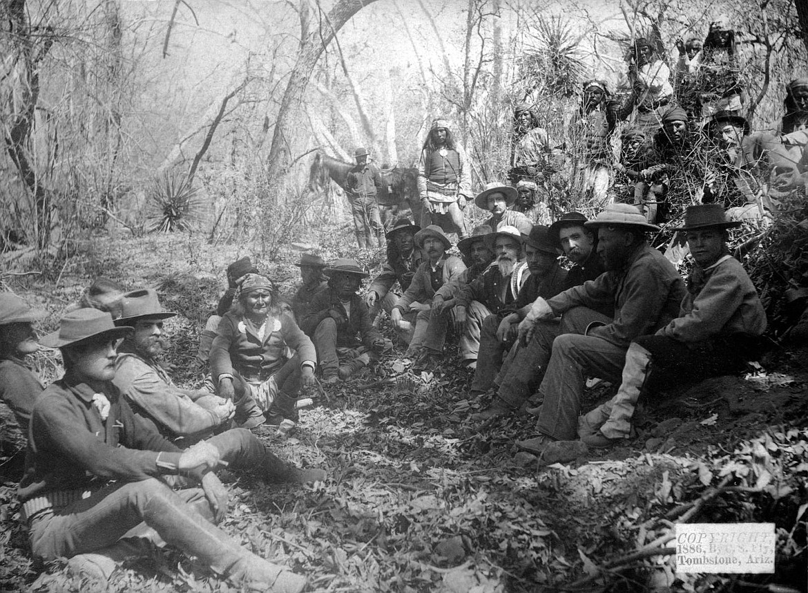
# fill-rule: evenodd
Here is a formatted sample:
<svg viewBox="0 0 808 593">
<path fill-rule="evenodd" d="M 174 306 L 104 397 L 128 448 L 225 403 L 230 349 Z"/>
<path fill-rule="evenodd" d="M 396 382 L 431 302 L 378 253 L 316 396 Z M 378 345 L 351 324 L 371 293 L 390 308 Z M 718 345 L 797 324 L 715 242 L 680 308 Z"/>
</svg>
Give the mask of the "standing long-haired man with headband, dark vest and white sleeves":
<svg viewBox="0 0 808 593">
<path fill-rule="evenodd" d="M 469 236 L 463 209 L 471 196 L 471 165 L 448 121 L 432 121 L 418 161 L 418 193 L 423 204 L 421 226 Z"/>
</svg>

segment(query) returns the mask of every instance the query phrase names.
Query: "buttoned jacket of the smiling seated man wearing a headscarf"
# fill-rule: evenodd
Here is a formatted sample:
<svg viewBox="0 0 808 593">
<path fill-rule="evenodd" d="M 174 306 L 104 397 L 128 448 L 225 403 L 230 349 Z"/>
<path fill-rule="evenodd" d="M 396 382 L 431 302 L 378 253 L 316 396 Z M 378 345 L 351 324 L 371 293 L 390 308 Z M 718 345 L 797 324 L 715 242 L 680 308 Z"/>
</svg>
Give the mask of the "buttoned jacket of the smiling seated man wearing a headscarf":
<svg viewBox="0 0 808 593">
<path fill-rule="evenodd" d="M 213 380 L 234 371 L 250 382 L 265 381 L 286 362 L 286 346 L 297 350 L 303 362 L 316 364 L 317 353 L 309 337 L 288 315 L 267 318 L 267 332 L 259 340 L 253 324 L 234 311 L 228 311 L 219 323 L 217 337 L 210 348 Z"/>
</svg>

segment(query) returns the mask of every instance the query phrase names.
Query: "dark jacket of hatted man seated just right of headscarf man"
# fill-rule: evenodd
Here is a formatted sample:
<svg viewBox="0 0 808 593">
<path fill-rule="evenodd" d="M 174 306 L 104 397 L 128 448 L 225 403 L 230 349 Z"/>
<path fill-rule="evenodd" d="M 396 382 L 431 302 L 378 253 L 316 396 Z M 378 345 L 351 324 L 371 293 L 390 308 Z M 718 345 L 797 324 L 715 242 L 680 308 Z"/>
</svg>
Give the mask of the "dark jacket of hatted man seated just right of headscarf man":
<svg viewBox="0 0 808 593">
<path fill-rule="evenodd" d="M 384 340 L 377 328 L 373 327 L 368 305 L 358 294 L 351 296 L 351 315 L 349 316 L 343 303 L 339 302 L 336 290 L 329 289 L 318 294 L 309 303 L 309 313 L 303 316 L 301 328 L 309 336 L 314 336 L 314 330 L 320 322 L 329 316 L 328 311 L 334 308 L 347 318 L 344 324 L 337 326 L 337 346 L 353 348 L 357 345 L 357 335 L 364 345 L 370 348 L 374 341 Z"/>
</svg>

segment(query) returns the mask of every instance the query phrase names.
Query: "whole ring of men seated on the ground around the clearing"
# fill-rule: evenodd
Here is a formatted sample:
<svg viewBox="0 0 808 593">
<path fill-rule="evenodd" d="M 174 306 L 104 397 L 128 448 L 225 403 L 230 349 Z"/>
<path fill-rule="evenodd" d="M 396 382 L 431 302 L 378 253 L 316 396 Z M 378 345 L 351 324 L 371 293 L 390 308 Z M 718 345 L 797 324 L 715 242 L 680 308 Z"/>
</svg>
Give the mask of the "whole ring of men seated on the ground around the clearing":
<svg viewBox="0 0 808 593">
<path fill-rule="evenodd" d="M 515 193 L 491 185 L 478 199 L 510 206 Z M 33 553 L 73 557 L 80 570 L 104 574 L 106 561 L 150 539 L 234 581 L 301 591 L 305 577 L 215 526 L 227 506 L 215 470 L 322 480 L 325 472 L 279 460 L 248 429 L 296 421 L 315 367 L 337 383 L 391 349 L 374 324 L 382 309 L 415 369 L 440 365 L 453 331 L 473 370 L 471 395 L 490 398 L 473 420 L 532 413 L 538 436 L 516 444 L 540 458 L 559 443 L 625 442 L 638 399 L 654 385 L 736 371 L 755 358 L 765 314 L 728 252 L 728 230 L 739 223 L 722 205 L 687 209 L 678 229 L 694 260 L 687 282 L 647 243 L 659 227 L 634 205 L 608 205 L 588 220 L 570 212 L 549 227 L 489 222 L 458 244 L 461 259 L 440 227 L 399 220 L 364 298 L 368 274 L 355 260 L 326 265 L 304 254 L 303 286 L 288 304 L 250 260 L 234 262 L 229 310 L 200 344 L 213 375 L 200 390 L 177 387 L 158 362 L 163 322 L 175 313 L 154 290 L 102 287 L 39 343 L 33 324 L 44 312 L 0 294 L 0 397 L 27 427 L 19 497 Z M 40 344 L 60 349 L 65 364 L 47 388 L 25 364 Z M 587 377 L 619 388 L 582 415 Z"/>
</svg>

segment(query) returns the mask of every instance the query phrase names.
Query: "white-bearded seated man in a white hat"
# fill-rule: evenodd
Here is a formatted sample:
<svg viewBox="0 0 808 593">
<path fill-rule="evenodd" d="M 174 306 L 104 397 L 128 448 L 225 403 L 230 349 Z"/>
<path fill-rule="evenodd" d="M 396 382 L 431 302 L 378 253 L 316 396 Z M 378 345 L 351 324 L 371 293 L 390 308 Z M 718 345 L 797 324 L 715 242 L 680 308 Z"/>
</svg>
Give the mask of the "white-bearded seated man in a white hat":
<svg viewBox="0 0 808 593">
<path fill-rule="evenodd" d="M 494 264 L 461 286 L 455 299 L 455 332 L 461 337 L 461 358 L 469 368 L 477 367 L 483 321 L 516 302 L 529 274 L 525 273 L 528 265 L 522 252 L 524 239 L 516 227 L 499 227 L 499 231 L 486 235 L 485 240 L 496 256 Z"/>
</svg>

